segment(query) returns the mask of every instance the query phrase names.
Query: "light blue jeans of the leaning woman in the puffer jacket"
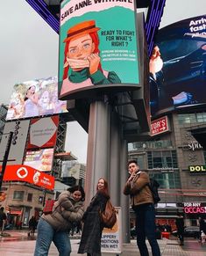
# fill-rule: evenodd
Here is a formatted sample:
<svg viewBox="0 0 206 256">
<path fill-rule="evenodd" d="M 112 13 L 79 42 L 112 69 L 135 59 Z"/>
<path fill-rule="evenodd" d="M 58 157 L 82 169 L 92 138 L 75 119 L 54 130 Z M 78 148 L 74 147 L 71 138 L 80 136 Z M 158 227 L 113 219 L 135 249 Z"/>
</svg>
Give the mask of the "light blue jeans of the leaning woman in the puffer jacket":
<svg viewBox="0 0 206 256">
<path fill-rule="evenodd" d="M 47 256 L 52 242 L 57 247 L 60 256 L 70 255 L 71 244 L 67 231 L 55 231 L 49 223 L 40 218 L 34 256 Z"/>
</svg>

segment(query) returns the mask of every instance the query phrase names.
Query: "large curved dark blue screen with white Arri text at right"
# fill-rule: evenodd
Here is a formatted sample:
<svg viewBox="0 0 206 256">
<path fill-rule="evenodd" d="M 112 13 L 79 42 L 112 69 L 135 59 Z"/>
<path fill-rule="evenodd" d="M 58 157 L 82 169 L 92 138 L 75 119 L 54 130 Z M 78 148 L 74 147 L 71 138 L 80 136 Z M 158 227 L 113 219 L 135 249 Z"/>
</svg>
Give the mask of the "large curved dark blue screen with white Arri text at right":
<svg viewBox="0 0 206 256">
<path fill-rule="evenodd" d="M 152 113 L 206 103 L 206 15 L 160 29 L 150 59 Z"/>
</svg>

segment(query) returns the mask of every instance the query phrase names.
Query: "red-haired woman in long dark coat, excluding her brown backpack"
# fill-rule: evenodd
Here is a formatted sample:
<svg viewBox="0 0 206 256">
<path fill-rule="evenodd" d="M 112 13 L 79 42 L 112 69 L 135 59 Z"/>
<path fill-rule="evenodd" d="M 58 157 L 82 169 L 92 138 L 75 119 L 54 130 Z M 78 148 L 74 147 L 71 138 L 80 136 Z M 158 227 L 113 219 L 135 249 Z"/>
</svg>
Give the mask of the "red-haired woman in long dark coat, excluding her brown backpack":
<svg viewBox="0 0 206 256">
<path fill-rule="evenodd" d="M 101 178 L 96 186 L 96 195 L 90 201 L 89 207 L 82 218 L 84 224 L 78 253 L 87 252 L 88 256 L 101 255 L 103 223 L 101 222 L 99 211 L 105 209 L 106 202 L 109 199 L 108 183 Z"/>
</svg>

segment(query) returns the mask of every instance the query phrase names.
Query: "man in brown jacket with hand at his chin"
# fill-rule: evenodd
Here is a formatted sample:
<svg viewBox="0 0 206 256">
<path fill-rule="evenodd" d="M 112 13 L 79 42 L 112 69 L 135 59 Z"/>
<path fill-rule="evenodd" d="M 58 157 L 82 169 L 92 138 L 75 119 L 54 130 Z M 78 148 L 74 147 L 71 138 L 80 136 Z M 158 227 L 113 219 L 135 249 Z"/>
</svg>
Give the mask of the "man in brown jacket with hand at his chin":
<svg viewBox="0 0 206 256">
<path fill-rule="evenodd" d="M 131 207 L 136 215 L 137 244 L 141 256 L 149 256 L 146 246 L 148 239 L 153 256 L 160 256 L 160 247 L 155 236 L 155 210 L 153 195 L 148 186 L 150 179 L 146 172 L 139 170 L 136 160 L 128 162 L 130 177 L 124 185 L 124 194 L 130 195 Z"/>
</svg>

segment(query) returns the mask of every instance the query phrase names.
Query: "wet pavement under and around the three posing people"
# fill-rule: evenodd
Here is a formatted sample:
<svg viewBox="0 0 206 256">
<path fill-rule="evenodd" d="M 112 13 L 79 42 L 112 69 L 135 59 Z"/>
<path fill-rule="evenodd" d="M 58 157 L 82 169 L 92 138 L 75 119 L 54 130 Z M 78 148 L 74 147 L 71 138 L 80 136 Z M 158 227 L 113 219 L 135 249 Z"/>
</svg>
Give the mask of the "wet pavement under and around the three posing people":
<svg viewBox="0 0 206 256">
<path fill-rule="evenodd" d="M 27 236 L 25 231 L 6 231 L 3 237 L 0 237 L 0 255 L 4 256 L 32 256 L 35 246 L 35 236 Z M 77 256 L 77 250 L 79 247 L 79 237 L 71 238 L 72 250 L 71 256 Z M 176 238 L 167 239 L 162 238 L 158 240 L 160 245 L 160 252 L 162 256 L 206 256 L 206 244 L 198 243 L 198 240 L 194 238 L 187 238 L 185 245 L 180 246 Z M 148 245 L 148 242 L 147 242 Z M 150 255 L 150 245 L 148 245 Z M 54 245 L 51 245 L 49 256 L 57 256 L 59 253 Z M 83 254 L 86 255 L 86 254 Z M 103 256 L 114 256 L 116 254 L 102 253 Z M 123 245 L 122 256 L 139 256 L 139 250 L 135 240 L 131 240 L 131 244 Z"/>
</svg>

